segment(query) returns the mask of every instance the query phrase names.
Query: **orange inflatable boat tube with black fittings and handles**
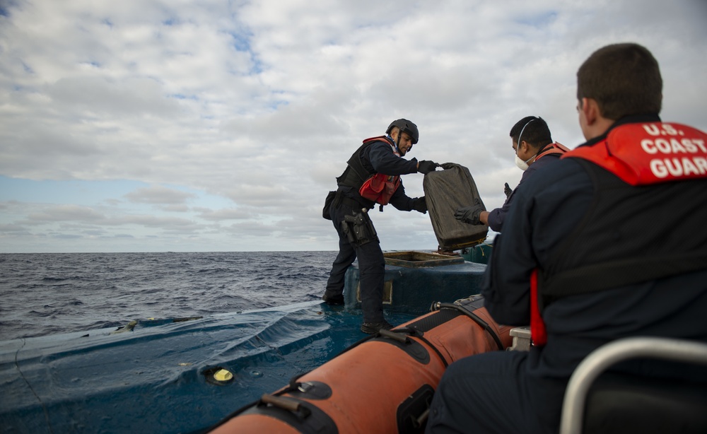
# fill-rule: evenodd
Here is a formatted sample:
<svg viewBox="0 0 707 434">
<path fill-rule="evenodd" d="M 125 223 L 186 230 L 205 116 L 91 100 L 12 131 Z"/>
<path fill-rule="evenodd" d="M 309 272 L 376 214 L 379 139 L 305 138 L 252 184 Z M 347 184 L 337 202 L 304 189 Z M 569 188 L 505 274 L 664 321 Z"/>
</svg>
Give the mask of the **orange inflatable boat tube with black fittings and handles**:
<svg viewBox="0 0 707 434">
<path fill-rule="evenodd" d="M 212 433 L 416 433 L 447 366 L 510 346 L 482 298 L 438 310 L 355 344 L 273 394 L 236 411 Z"/>
</svg>

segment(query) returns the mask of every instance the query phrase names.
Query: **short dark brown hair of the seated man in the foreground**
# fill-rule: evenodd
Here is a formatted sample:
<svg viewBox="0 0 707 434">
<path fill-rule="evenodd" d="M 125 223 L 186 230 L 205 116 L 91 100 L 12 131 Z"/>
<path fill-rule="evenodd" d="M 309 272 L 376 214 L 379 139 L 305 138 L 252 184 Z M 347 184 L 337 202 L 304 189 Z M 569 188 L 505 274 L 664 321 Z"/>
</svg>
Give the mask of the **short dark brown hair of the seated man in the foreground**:
<svg viewBox="0 0 707 434">
<path fill-rule="evenodd" d="M 592 98 L 607 119 L 658 115 L 662 102 L 660 67 L 638 44 L 597 49 L 577 71 L 577 99 Z"/>
</svg>

